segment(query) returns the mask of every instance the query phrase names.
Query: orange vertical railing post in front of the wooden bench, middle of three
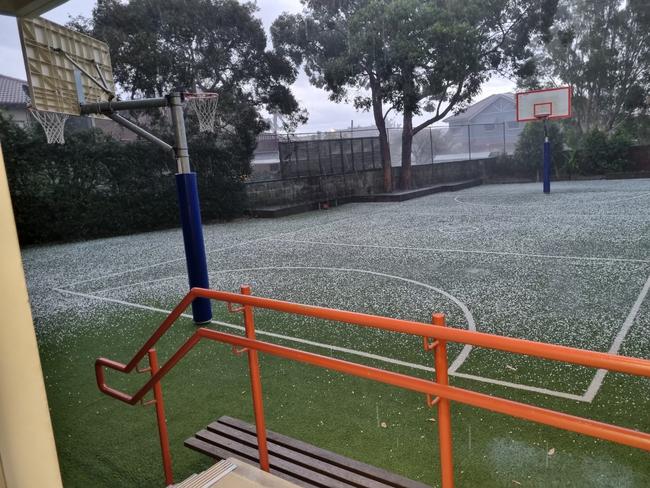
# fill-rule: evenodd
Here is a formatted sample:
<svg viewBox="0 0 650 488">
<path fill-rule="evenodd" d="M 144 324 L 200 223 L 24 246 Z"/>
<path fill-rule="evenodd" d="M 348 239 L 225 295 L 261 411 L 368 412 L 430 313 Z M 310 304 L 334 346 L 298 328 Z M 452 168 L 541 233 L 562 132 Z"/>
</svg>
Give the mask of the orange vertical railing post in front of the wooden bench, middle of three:
<svg viewBox="0 0 650 488">
<path fill-rule="evenodd" d="M 242 295 L 250 295 L 251 287 L 242 285 Z M 255 321 L 253 307 L 244 305 L 244 326 L 246 338 L 255 340 Z M 255 430 L 257 433 L 257 448 L 260 456 L 260 468 L 269 471 L 269 450 L 266 445 L 266 422 L 264 421 L 264 403 L 262 398 L 262 380 L 260 379 L 260 363 L 257 351 L 248 349 L 248 369 L 251 377 L 251 392 L 253 394 L 253 411 L 255 413 Z"/>
</svg>

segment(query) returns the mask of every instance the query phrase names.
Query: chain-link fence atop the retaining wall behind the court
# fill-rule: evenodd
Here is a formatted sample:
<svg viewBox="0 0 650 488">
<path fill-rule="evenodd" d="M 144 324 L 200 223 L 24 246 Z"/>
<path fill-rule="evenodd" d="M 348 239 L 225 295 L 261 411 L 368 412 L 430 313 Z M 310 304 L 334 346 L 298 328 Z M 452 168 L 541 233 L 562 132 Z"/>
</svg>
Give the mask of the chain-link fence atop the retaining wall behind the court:
<svg viewBox="0 0 650 488">
<path fill-rule="evenodd" d="M 411 162 L 436 164 L 513 154 L 523 123 L 429 127 L 413 137 Z M 402 129 L 388 129 L 393 166 L 402 161 Z M 379 131 L 261 134 L 252 163 L 253 181 L 345 174 L 381 168 Z"/>
</svg>

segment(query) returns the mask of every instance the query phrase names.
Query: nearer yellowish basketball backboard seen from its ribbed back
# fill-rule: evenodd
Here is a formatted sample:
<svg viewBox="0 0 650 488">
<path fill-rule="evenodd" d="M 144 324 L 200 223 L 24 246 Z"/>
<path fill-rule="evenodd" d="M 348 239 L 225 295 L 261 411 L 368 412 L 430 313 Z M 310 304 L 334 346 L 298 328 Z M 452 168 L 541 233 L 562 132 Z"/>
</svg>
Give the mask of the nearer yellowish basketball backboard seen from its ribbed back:
<svg viewBox="0 0 650 488">
<path fill-rule="evenodd" d="M 43 18 L 18 19 L 33 108 L 79 115 L 115 92 L 108 45 Z"/>
</svg>

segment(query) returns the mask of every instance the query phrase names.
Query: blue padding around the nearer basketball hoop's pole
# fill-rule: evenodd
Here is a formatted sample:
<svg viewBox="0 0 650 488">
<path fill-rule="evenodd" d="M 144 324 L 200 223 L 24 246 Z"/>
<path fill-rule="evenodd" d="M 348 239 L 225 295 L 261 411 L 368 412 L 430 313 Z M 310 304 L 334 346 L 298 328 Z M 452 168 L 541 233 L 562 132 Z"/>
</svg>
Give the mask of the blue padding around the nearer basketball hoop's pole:
<svg viewBox="0 0 650 488">
<path fill-rule="evenodd" d="M 210 288 L 196 173 L 178 173 L 176 175 L 176 189 L 178 191 L 178 207 L 181 213 L 190 288 Z M 210 300 L 207 298 L 195 299 L 192 302 L 192 316 L 197 324 L 209 322 L 212 319 Z"/>
</svg>

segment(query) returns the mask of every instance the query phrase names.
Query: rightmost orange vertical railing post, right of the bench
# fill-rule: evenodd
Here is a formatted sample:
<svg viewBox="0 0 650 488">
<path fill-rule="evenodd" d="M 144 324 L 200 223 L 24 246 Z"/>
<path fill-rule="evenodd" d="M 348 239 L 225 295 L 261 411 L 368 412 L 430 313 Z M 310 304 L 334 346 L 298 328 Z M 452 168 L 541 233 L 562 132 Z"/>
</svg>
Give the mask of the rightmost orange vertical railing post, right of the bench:
<svg viewBox="0 0 650 488">
<path fill-rule="evenodd" d="M 432 323 L 436 327 L 445 327 L 445 314 L 433 314 Z M 449 384 L 447 374 L 447 342 L 438 340 L 433 348 L 436 368 L 436 382 L 441 385 Z M 451 439 L 451 407 L 447 398 L 438 401 L 438 438 L 440 439 L 440 469 L 442 472 L 442 488 L 454 486 L 454 461 Z"/>
</svg>

